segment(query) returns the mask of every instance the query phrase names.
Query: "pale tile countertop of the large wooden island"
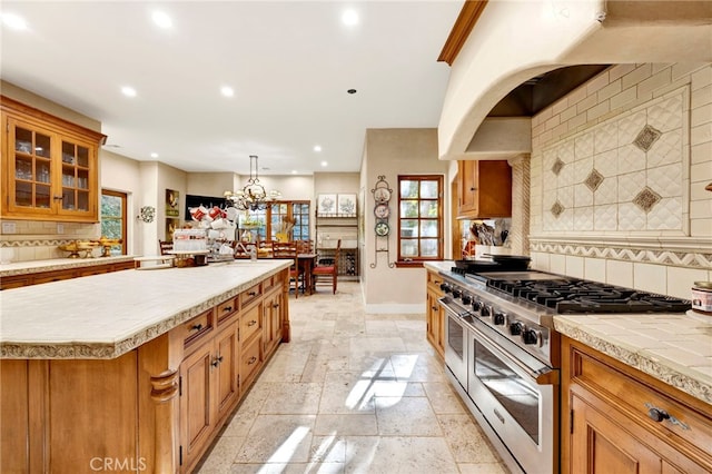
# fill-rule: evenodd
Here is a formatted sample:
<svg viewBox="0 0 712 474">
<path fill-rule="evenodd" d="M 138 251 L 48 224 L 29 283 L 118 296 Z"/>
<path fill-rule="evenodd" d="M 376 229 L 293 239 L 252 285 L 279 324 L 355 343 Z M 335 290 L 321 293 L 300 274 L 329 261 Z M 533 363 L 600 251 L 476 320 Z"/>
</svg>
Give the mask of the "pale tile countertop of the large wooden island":
<svg viewBox="0 0 712 474">
<path fill-rule="evenodd" d="M 123 270 L 0 293 L 0 358 L 115 358 L 291 260 Z"/>
</svg>

